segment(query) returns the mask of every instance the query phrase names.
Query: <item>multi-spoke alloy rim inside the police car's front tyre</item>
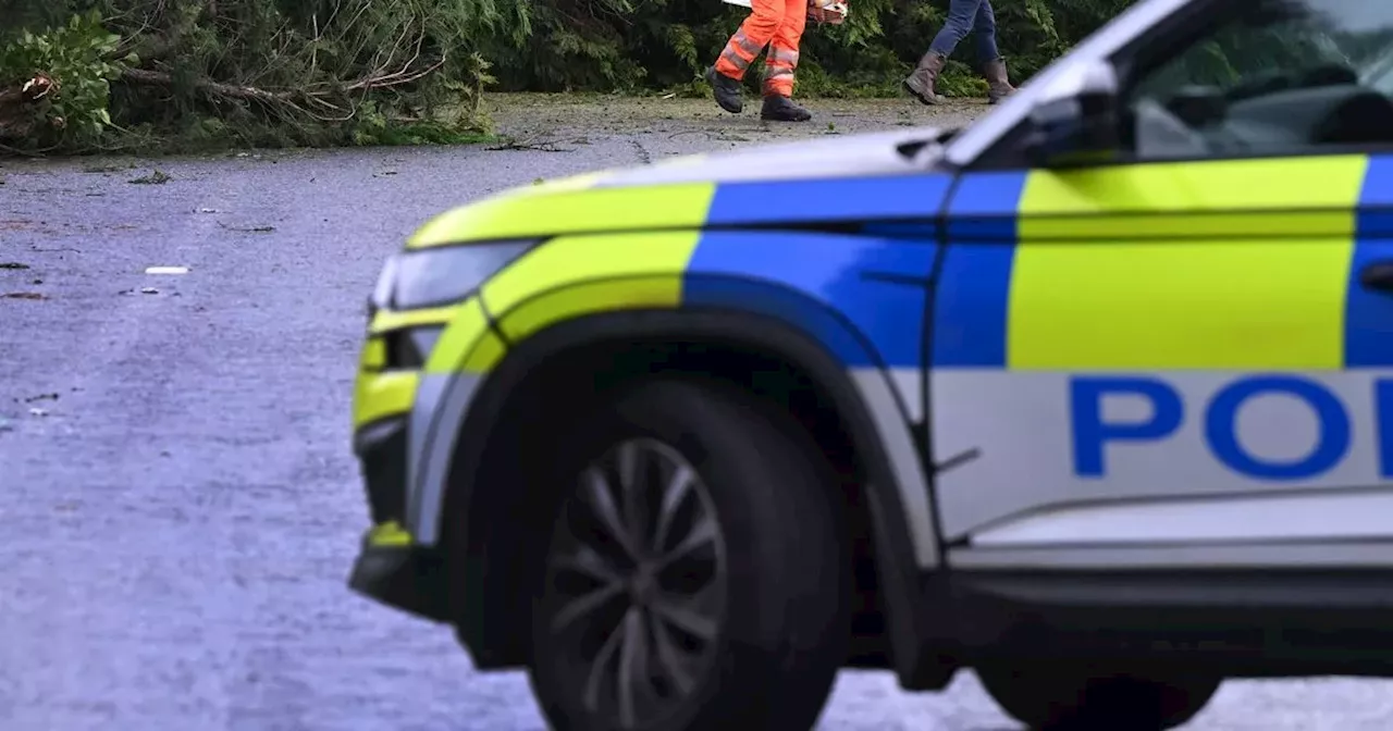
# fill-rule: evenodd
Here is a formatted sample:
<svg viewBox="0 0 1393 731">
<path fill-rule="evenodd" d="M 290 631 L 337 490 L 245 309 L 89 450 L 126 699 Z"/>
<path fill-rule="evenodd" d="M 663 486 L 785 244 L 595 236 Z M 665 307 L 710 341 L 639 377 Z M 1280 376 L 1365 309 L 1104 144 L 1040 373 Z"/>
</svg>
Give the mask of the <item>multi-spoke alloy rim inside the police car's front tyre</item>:
<svg viewBox="0 0 1393 731">
<path fill-rule="evenodd" d="M 696 469 L 653 439 L 581 471 L 547 556 L 550 643 L 585 710 L 620 728 L 695 693 L 726 615 L 726 547 Z"/>
</svg>

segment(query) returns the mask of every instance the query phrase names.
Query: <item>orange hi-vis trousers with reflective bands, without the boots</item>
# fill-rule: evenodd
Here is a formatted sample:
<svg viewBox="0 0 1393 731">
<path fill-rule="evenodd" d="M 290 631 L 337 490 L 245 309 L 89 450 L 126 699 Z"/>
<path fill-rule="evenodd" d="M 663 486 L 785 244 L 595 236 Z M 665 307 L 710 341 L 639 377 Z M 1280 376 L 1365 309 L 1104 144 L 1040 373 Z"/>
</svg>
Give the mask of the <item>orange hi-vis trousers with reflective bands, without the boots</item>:
<svg viewBox="0 0 1393 731">
<path fill-rule="evenodd" d="M 716 58 L 716 71 L 733 79 L 745 78 L 755 56 L 769 46 L 765 57 L 765 96 L 793 96 L 793 71 L 798 67 L 798 42 L 808 24 L 808 0 L 752 0 L 754 13 L 730 36 Z"/>
</svg>

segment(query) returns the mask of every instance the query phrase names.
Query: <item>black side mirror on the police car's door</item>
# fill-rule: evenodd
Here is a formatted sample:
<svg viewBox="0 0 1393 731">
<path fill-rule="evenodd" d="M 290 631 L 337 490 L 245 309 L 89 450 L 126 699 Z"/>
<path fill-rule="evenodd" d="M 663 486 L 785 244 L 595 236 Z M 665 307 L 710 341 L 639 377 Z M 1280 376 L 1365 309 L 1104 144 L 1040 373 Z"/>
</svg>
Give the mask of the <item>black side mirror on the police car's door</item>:
<svg viewBox="0 0 1393 731">
<path fill-rule="evenodd" d="M 1025 152 L 1036 167 L 1109 160 L 1121 146 L 1120 125 L 1117 72 L 1112 64 L 1084 64 L 1035 104 Z"/>
</svg>

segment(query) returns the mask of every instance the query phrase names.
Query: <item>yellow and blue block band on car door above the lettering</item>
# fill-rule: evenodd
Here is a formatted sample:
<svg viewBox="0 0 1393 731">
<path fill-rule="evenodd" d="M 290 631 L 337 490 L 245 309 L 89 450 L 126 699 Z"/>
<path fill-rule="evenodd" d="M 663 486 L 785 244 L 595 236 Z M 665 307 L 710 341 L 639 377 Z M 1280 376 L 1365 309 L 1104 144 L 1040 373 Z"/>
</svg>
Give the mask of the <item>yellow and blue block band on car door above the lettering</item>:
<svg viewBox="0 0 1393 731">
<path fill-rule="evenodd" d="M 1393 365 L 1393 157 L 968 174 L 949 205 L 932 365 Z"/>
</svg>

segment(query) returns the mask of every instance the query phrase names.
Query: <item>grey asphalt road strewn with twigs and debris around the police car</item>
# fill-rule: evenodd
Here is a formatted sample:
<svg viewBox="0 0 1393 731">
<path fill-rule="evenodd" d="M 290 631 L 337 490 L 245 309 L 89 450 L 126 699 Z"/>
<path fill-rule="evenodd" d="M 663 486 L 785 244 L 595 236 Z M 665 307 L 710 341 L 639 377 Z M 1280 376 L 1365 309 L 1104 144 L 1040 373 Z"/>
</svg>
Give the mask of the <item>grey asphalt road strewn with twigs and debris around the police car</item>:
<svg viewBox="0 0 1393 731">
<path fill-rule="evenodd" d="M 447 631 L 344 588 L 364 297 L 444 207 L 741 142 L 0 164 L 0 295 L 43 297 L 0 298 L 0 728 L 543 728 L 521 674 L 474 674 Z M 128 182 L 155 167 L 171 180 Z M 143 273 L 164 265 L 189 273 Z M 1236 682 L 1192 728 L 1390 720 L 1385 682 Z M 858 673 L 823 728 L 1013 724 L 971 675 L 907 695 Z"/>
</svg>

